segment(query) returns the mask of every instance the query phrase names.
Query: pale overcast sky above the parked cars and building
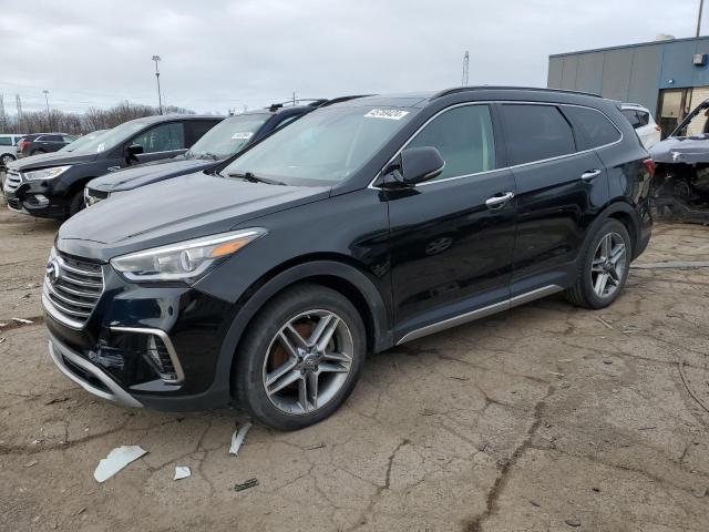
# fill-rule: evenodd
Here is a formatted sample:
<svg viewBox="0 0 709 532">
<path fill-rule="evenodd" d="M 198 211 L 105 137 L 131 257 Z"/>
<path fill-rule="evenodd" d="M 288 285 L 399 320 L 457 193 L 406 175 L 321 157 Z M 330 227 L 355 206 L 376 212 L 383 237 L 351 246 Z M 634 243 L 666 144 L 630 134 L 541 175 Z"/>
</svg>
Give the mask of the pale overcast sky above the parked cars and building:
<svg viewBox="0 0 709 532">
<path fill-rule="evenodd" d="M 547 57 L 693 37 L 699 0 L 0 0 L 0 93 L 24 110 L 168 104 L 226 113 L 299 98 L 546 85 Z M 709 11 L 709 9 L 707 10 Z M 705 13 L 709 34 L 709 12 Z"/>
</svg>

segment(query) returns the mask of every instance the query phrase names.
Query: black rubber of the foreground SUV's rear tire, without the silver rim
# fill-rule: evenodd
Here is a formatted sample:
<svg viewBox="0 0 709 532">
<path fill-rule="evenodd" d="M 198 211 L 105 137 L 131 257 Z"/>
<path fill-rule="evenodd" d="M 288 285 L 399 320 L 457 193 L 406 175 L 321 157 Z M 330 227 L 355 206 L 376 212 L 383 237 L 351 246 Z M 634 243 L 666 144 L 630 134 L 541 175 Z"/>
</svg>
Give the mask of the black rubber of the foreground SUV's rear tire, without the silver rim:
<svg viewBox="0 0 709 532">
<path fill-rule="evenodd" d="M 594 264 L 594 259 L 596 258 L 596 253 L 598 247 L 604 238 L 608 235 L 616 235 L 613 238 L 619 237 L 625 245 L 625 255 L 619 260 L 623 262 L 623 272 L 620 275 L 617 285 L 615 285 L 615 289 L 613 293 L 600 297 L 595 290 L 592 279 L 592 266 Z M 594 235 L 589 238 L 586 247 L 582 252 L 580 264 L 578 266 L 578 274 L 576 278 L 576 284 L 565 291 L 566 299 L 576 305 L 578 307 L 584 308 L 605 308 L 615 301 L 623 288 L 625 287 L 625 283 L 628 278 L 628 272 L 630 269 L 630 257 L 633 256 L 633 245 L 630 242 L 630 235 L 628 234 L 628 229 L 623 225 L 623 223 L 618 222 L 614 218 L 606 219 L 598 229 L 594 233 Z"/>
</svg>

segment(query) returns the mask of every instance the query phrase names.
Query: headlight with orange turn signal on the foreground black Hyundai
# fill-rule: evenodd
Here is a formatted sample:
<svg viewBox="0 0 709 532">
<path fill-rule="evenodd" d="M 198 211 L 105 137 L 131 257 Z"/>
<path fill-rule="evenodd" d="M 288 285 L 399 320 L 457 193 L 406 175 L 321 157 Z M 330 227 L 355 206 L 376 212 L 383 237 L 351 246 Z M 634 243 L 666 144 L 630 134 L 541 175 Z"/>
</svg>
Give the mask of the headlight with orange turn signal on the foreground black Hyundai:
<svg viewBox="0 0 709 532">
<path fill-rule="evenodd" d="M 266 234 L 260 227 L 222 233 L 111 259 L 129 280 L 195 283 L 225 257 Z"/>
</svg>

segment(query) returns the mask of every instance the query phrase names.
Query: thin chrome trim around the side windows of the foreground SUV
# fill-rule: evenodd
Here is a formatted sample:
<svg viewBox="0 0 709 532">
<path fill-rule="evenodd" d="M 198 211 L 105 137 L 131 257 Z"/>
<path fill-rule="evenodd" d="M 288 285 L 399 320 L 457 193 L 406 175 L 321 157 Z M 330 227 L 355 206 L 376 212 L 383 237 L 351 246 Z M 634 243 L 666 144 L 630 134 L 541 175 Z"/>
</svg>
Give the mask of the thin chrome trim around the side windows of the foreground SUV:
<svg viewBox="0 0 709 532">
<path fill-rule="evenodd" d="M 597 113 L 600 113 L 608 122 L 610 122 L 610 124 L 613 124 L 613 126 L 616 129 L 616 131 L 620 134 L 620 137 L 617 141 L 610 142 L 608 144 L 604 144 L 602 146 L 590 147 L 588 150 L 582 150 L 582 151 L 574 152 L 574 153 L 567 153 L 565 155 L 557 155 L 555 157 L 541 158 L 538 161 L 531 161 L 528 163 L 513 164 L 513 165 L 510 165 L 510 166 L 501 166 L 499 168 L 486 170 L 484 172 L 475 172 L 475 173 L 472 173 L 472 174 L 464 174 L 464 175 L 454 175 L 454 176 L 451 176 L 451 177 L 445 177 L 444 180 L 430 181 L 428 183 L 418 183 L 415 185 L 412 185 L 413 187 L 418 188 L 420 186 L 435 185 L 438 183 L 445 183 L 445 182 L 449 182 L 449 181 L 463 180 L 465 177 L 474 177 L 474 176 L 479 176 L 479 175 L 492 174 L 494 172 L 502 172 L 502 171 L 506 171 L 506 170 L 515 170 L 515 168 L 521 168 L 521 167 L 524 167 L 524 166 L 531 166 L 533 164 L 542 164 L 542 163 L 548 163 L 551 161 L 558 161 L 558 160 L 562 160 L 562 158 L 568 158 L 568 157 L 573 157 L 573 156 L 576 156 L 576 155 L 590 153 L 590 152 L 594 152 L 596 150 L 604 150 L 606 147 L 615 146 L 616 144 L 619 144 L 620 142 L 623 142 L 623 139 L 625 136 L 623 134 L 623 131 L 620 131 L 618 129 L 616 123 L 613 120 L 610 120 L 610 117 L 606 113 L 604 113 L 599 109 L 590 108 L 588 105 L 579 105 L 577 103 L 526 102 L 526 101 L 516 101 L 516 100 L 484 100 L 484 101 L 476 101 L 476 102 L 456 103 L 454 105 L 450 105 L 450 106 L 448 106 L 445 109 L 442 109 L 441 111 L 435 113 L 433 116 L 431 116 L 429 120 L 427 120 L 417 131 L 414 131 L 411 134 L 411 136 L 409 136 L 409 139 L 403 143 L 403 145 L 397 151 L 397 153 L 394 153 L 394 155 L 387 162 L 387 164 L 384 164 L 381 167 L 381 170 L 379 172 L 377 172 L 377 175 L 374 175 L 374 178 L 369 183 L 367 188 L 372 188 L 372 190 L 376 190 L 376 191 L 382 190 L 381 186 L 374 186 L 374 183 L 377 182 L 377 180 L 379 180 L 381 177 L 382 172 L 384 171 L 384 168 L 387 166 L 389 166 L 391 163 L 393 163 L 393 161 L 399 156 L 399 154 L 401 152 L 403 152 L 407 149 L 407 146 L 417 137 L 417 135 L 421 132 L 421 130 L 423 130 L 427 125 L 429 125 L 433 120 L 435 120 L 441 114 L 443 114 L 443 113 L 445 113 L 445 112 L 448 112 L 448 111 L 450 111 L 452 109 L 456 109 L 456 108 L 463 108 L 463 106 L 467 106 L 467 105 L 491 105 L 491 104 L 495 104 L 495 103 L 500 103 L 500 104 L 516 104 L 516 105 L 551 105 L 551 106 L 555 106 L 555 108 L 590 109 L 592 111 L 596 111 Z M 571 125 L 571 127 L 573 130 L 573 125 Z"/>
</svg>

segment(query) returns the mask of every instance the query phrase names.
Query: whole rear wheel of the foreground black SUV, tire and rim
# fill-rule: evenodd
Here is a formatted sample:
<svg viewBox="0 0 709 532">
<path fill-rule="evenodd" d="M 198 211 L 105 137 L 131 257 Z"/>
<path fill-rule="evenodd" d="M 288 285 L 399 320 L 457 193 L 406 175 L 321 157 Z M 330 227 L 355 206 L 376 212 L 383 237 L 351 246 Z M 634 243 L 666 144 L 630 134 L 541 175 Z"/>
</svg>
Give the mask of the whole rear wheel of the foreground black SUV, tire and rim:
<svg viewBox="0 0 709 532">
<path fill-rule="evenodd" d="M 606 219 L 582 252 L 576 284 L 566 290 L 566 299 L 578 307 L 607 307 L 625 287 L 631 256 L 628 229 L 617 219 Z"/>
</svg>

